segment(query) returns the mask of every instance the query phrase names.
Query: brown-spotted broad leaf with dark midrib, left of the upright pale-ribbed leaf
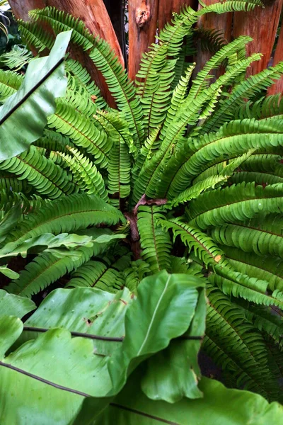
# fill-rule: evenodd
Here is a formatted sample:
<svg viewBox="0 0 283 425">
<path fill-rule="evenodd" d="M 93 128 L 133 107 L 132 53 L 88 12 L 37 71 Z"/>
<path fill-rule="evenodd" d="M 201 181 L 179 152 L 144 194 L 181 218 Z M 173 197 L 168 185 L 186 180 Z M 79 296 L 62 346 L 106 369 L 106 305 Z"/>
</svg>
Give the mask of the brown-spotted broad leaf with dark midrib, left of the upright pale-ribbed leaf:
<svg viewBox="0 0 283 425">
<path fill-rule="evenodd" d="M 87 335 L 122 338 L 125 336 L 125 314 L 133 300 L 127 288 L 116 294 L 98 288 L 57 289 L 25 322 L 29 331 L 25 339 L 34 339 L 36 329 L 64 328 Z M 93 339 L 94 352 L 110 356 L 122 342 Z"/>
</svg>

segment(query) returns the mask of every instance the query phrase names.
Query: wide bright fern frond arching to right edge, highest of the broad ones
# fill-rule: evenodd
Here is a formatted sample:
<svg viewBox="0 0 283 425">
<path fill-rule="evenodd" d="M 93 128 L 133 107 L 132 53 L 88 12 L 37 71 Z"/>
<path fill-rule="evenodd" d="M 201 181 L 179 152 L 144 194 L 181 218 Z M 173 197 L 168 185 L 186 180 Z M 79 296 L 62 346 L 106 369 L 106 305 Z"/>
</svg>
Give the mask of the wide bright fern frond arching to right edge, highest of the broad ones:
<svg viewBox="0 0 283 425">
<path fill-rule="evenodd" d="M 187 147 L 180 149 L 180 153 L 168 162 L 168 169 L 173 171 L 164 175 L 169 186 L 166 196 L 171 198 L 185 190 L 187 183 L 216 158 L 227 160 L 248 152 L 249 149 L 282 145 L 283 132 L 277 122 L 266 123 L 251 119 L 226 123 L 217 133 L 208 133 L 189 140 Z"/>
</svg>

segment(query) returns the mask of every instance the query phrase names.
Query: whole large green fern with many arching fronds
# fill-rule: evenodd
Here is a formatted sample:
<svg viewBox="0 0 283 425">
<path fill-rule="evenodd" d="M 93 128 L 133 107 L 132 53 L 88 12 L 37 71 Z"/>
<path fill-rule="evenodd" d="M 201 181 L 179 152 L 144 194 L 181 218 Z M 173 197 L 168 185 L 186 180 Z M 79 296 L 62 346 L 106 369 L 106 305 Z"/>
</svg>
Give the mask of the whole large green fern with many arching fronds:
<svg viewBox="0 0 283 425">
<path fill-rule="evenodd" d="M 33 22 L 20 23 L 26 42 L 50 49 L 45 26 L 54 33 L 71 29 L 72 43 L 102 72 L 117 110 L 68 57 L 67 94 L 57 99 L 44 134 L 0 163 L 2 217 L 19 200 L 23 207 L 0 259 L 5 266 L 1 251 L 21 253 L 41 234 L 90 238 L 69 254 L 45 249 L 28 256 L 5 287 L 25 297 L 50 285 L 135 293 L 144 277 L 163 270 L 201 278 L 207 285 L 202 350 L 226 385 L 282 401 L 283 101 L 265 92 L 283 64 L 246 79 L 261 56 L 246 57 L 250 38 L 241 36 L 214 46 L 195 75 L 183 47 L 184 38 L 192 45 L 194 23 L 204 13 L 257 4 L 183 8 L 142 58 L 135 84 L 107 42 L 83 23 L 54 8 L 31 12 Z M 5 101 L 21 77 L 8 71 L 0 79 Z"/>
</svg>

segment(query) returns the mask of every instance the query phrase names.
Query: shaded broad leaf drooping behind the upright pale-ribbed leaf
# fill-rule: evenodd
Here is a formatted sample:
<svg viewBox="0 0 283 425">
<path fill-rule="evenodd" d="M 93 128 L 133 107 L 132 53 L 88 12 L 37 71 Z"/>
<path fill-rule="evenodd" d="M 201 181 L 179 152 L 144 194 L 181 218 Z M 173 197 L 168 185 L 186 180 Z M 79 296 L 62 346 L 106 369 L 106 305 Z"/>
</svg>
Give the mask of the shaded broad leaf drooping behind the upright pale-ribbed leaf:
<svg viewBox="0 0 283 425">
<path fill-rule="evenodd" d="M 197 279 L 197 278 L 196 278 Z M 200 293 L 195 316 L 185 336 L 203 336 L 205 329 L 206 300 L 204 290 Z M 193 314 L 188 309 L 187 314 Z M 175 339 L 166 350 L 160 351 L 147 361 L 147 370 L 141 380 L 144 394 L 153 400 L 168 403 L 179 402 L 183 397 L 202 397 L 197 387 L 201 378 L 197 355 L 201 340 Z"/>
</svg>

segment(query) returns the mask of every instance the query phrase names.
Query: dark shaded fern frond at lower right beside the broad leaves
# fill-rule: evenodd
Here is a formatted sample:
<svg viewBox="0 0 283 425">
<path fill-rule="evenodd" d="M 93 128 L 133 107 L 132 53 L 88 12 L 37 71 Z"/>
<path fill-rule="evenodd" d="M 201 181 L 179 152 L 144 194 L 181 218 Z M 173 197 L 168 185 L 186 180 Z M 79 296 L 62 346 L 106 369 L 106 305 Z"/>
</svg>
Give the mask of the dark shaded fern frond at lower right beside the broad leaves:
<svg viewBox="0 0 283 425">
<path fill-rule="evenodd" d="M 272 398 L 276 382 L 268 369 L 264 339 L 253 324 L 246 321 L 243 310 L 223 293 L 208 287 L 207 295 L 204 351 L 225 374 L 231 375 L 234 385 Z"/>
</svg>

